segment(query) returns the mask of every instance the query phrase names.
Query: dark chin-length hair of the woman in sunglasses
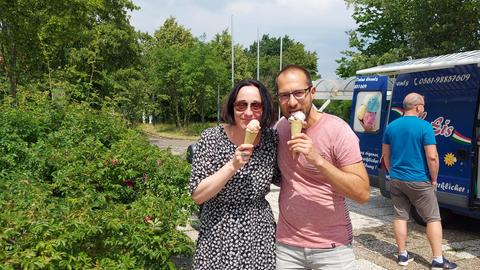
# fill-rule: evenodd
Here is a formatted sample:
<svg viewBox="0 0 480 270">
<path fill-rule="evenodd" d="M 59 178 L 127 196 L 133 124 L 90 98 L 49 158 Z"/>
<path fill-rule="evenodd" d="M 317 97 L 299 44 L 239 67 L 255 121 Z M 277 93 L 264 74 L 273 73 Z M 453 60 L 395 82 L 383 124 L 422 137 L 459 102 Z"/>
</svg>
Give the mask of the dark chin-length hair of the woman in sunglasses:
<svg viewBox="0 0 480 270">
<path fill-rule="evenodd" d="M 226 102 L 223 104 L 222 108 L 222 118 L 227 124 L 235 125 L 235 111 L 234 111 L 234 103 L 237 99 L 238 92 L 244 86 L 255 86 L 258 88 L 260 92 L 260 98 L 262 99 L 262 118 L 260 119 L 260 126 L 261 127 L 271 127 L 275 123 L 275 115 L 274 115 L 274 108 L 272 97 L 268 92 L 267 88 L 259 81 L 248 79 L 242 80 L 235 84 L 232 91 L 228 95 Z"/>
</svg>

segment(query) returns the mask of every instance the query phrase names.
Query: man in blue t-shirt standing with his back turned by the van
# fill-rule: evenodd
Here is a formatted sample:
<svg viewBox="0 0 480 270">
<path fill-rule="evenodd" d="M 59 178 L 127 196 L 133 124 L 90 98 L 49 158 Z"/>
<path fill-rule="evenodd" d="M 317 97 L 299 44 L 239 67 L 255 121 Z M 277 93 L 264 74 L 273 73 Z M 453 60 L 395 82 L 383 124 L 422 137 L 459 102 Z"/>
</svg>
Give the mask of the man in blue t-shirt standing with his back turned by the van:
<svg viewBox="0 0 480 270">
<path fill-rule="evenodd" d="M 393 230 L 398 246 L 398 264 L 413 257 L 407 252 L 407 221 L 411 205 L 427 224 L 427 238 L 433 253 L 432 269 L 457 269 L 442 256 L 442 223 L 435 187 L 439 160 L 432 126 L 421 119 L 424 97 L 408 94 L 403 100 L 403 117 L 390 123 L 383 137 L 382 152 L 390 173 L 390 194 L 395 218 Z"/>
</svg>

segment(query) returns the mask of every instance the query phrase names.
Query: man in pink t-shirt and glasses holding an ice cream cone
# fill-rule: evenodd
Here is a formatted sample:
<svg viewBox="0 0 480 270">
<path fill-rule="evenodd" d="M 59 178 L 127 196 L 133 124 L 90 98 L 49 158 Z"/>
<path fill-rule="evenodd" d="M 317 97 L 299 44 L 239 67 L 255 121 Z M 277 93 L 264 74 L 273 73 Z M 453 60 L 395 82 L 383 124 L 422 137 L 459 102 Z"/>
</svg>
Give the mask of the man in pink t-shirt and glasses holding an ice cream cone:
<svg viewBox="0 0 480 270">
<path fill-rule="evenodd" d="M 370 195 L 358 138 L 340 118 L 315 110 L 315 87 L 297 65 L 276 79 L 282 117 L 278 165 L 282 172 L 277 224 L 277 269 L 355 269 L 352 225 L 345 197 Z M 302 133 L 292 136 L 286 118 L 305 114 Z"/>
</svg>

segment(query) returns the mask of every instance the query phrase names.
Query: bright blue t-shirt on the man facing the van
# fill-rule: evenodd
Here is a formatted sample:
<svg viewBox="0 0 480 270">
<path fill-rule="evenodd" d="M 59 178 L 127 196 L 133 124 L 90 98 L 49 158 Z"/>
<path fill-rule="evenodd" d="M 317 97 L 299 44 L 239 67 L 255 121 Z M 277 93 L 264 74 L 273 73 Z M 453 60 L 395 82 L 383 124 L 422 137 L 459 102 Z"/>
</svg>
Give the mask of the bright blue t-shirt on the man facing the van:
<svg viewBox="0 0 480 270">
<path fill-rule="evenodd" d="M 390 177 L 429 181 L 425 145 L 437 144 L 432 125 L 416 116 L 403 116 L 387 126 L 383 143 L 390 145 Z"/>
</svg>

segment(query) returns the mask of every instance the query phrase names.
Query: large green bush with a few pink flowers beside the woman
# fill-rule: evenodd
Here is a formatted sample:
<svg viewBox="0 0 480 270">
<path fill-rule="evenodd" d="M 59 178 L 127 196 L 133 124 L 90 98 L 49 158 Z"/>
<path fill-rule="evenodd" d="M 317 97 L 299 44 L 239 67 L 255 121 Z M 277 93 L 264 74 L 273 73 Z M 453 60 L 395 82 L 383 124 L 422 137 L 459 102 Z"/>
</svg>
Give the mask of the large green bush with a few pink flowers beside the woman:
<svg viewBox="0 0 480 270">
<path fill-rule="evenodd" d="M 173 269 L 190 167 L 112 110 L 30 95 L 0 105 L 0 264 Z"/>
</svg>

